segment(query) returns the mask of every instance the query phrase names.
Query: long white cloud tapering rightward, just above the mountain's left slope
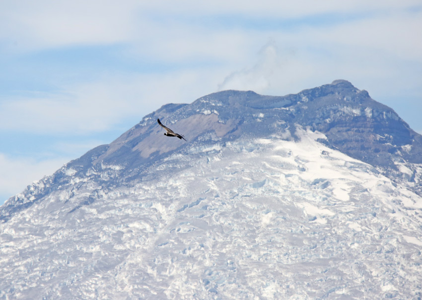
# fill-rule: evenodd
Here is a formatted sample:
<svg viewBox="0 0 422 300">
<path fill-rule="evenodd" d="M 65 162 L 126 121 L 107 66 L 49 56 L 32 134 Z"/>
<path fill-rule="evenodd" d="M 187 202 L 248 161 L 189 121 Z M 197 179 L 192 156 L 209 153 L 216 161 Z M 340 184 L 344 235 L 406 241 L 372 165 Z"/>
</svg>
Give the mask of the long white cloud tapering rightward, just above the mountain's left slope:
<svg viewBox="0 0 422 300">
<path fill-rule="evenodd" d="M 0 130 L 37 134 L 80 134 L 133 124 L 161 105 L 186 103 L 213 92 L 216 81 L 198 70 L 110 75 L 64 87 L 60 93 L 7 98 L 0 102 Z"/>
</svg>

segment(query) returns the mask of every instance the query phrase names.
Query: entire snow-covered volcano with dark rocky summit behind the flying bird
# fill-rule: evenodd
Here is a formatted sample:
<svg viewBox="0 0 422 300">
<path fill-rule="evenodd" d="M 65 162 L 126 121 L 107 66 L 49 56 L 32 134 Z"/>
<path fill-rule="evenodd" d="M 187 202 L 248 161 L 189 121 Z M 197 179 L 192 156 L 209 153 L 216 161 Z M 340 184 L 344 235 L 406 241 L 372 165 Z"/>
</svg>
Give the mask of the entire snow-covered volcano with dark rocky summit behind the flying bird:
<svg viewBox="0 0 422 300">
<path fill-rule="evenodd" d="M 348 81 L 168 104 L 6 201 L 0 299 L 419 299 L 421 179 Z"/>
</svg>

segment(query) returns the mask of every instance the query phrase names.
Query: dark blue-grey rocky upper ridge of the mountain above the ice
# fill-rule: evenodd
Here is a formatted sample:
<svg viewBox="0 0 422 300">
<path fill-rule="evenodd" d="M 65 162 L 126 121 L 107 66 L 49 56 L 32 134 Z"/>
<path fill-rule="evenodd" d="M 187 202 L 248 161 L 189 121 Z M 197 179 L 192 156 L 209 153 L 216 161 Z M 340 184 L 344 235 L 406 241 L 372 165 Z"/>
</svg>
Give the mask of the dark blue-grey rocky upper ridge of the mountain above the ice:
<svg viewBox="0 0 422 300">
<path fill-rule="evenodd" d="M 188 142 L 163 138 L 158 118 L 185 134 Z M 296 140 L 297 126 L 324 133 L 326 139 L 320 142 L 326 146 L 378 168 L 393 180 L 404 180 L 414 192 L 422 193 L 415 182 L 414 168 L 414 164 L 422 163 L 422 136 L 394 110 L 346 80 L 286 96 L 228 90 L 204 96 L 192 104 L 167 104 L 112 143 L 88 151 L 66 167 L 77 176 L 97 177 L 106 186 L 119 186 L 157 176 L 150 167 L 175 151 L 188 153 L 200 144 L 225 143 L 241 137 Z M 113 179 L 99 175 L 107 166 L 117 166 L 113 171 L 118 171 L 118 175 Z M 13 213 L 70 184 L 65 169 L 10 198 L 1 207 L 0 220 L 7 221 Z"/>
</svg>

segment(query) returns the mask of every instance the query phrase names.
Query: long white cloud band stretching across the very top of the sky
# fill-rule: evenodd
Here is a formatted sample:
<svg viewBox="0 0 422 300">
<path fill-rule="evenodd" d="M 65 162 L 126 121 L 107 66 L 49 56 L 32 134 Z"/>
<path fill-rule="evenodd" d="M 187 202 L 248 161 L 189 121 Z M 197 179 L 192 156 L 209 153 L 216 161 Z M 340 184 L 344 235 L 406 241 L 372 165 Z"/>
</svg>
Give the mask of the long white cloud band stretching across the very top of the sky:
<svg viewBox="0 0 422 300">
<path fill-rule="evenodd" d="M 186 7 L 189 7 L 187 10 Z M 144 48 L 153 48 L 153 52 L 164 52 L 163 57 L 171 55 L 180 50 L 190 47 L 195 41 L 198 45 L 212 44 L 209 51 L 207 48 L 199 48 L 206 54 L 214 56 L 221 54 L 218 50 L 218 43 L 231 42 L 235 34 L 230 34 L 224 38 L 221 26 L 215 26 L 196 22 L 192 26 L 193 17 L 201 20 L 204 16 L 223 16 L 225 18 L 236 18 L 242 16 L 253 21 L 266 17 L 272 20 L 297 20 L 304 21 L 303 18 L 312 16 L 313 18 L 327 17 L 328 14 L 348 15 L 371 15 L 374 14 L 406 14 L 403 18 L 397 19 L 397 30 L 401 34 L 395 35 L 401 40 L 406 38 L 407 33 L 400 28 L 408 27 L 409 10 L 413 7 L 421 7 L 419 0 L 405 1 L 274 1 L 264 0 L 257 4 L 256 1 L 237 2 L 212 1 L 198 2 L 184 0 L 174 3 L 174 1 L 135 1 L 128 0 L 116 4 L 115 1 L 93 0 L 93 1 L 9 1 L 3 3 L 0 11 L 0 24 L 4 29 L 0 33 L 0 38 L 8 39 L 13 45 L 20 49 L 28 48 L 46 49 L 55 47 L 65 47 L 72 45 L 98 45 L 129 43 L 138 44 Z M 414 20 L 418 16 L 415 15 Z M 420 18 L 419 18 L 420 19 Z M 218 19 L 217 19 L 218 20 Z M 370 21 L 369 21 L 370 22 Z M 402 23 L 404 22 L 404 23 Z M 413 22 L 410 20 L 410 22 Z M 367 28 L 377 30 L 374 24 L 367 23 Z M 415 24 L 418 25 L 418 24 Z M 239 29 L 238 26 L 235 28 Z M 413 27 L 417 30 L 418 27 Z M 420 28 L 420 27 L 419 27 Z M 380 28 L 382 29 L 382 28 Z M 241 31 L 241 30 L 240 30 Z M 391 32 L 377 31 L 378 35 L 387 35 Z M 370 34 L 367 31 L 358 31 L 362 34 Z M 235 33 L 235 32 L 234 32 Z M 155 40 L 155 41 L 154 41 Z M 158 41 L 162 41 L 159 43 Z M 152 42 L 152 43 L 151 43 Z M 159 47 L 154 47 L 156 44 Z M 168 45 L 171 51 L 165 52 Z M 223 47 L 221 47 L 223 48 Z M 195 47 L 193 47 L 195 49 Z M 213 49 L 213 50 L 212 50 Z M 211 51 L 212 50 L 212 51 Z M 179 56 L 184 56 L 184 52 Z"/>
</svg>

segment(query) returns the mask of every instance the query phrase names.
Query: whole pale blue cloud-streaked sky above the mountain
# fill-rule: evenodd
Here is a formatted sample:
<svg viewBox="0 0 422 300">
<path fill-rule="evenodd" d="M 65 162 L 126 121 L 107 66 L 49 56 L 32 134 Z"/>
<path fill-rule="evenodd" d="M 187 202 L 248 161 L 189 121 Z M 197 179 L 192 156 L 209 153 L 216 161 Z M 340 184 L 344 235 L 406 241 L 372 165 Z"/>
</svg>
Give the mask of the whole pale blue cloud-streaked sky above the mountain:
<svg viewBox="0 0 422 300">
<path fill-rule="evenodd" d="M 420 0 L 0 3 L 0 204 L 166 103 L 346 79 L 422 132 Z"/>
</svg>

